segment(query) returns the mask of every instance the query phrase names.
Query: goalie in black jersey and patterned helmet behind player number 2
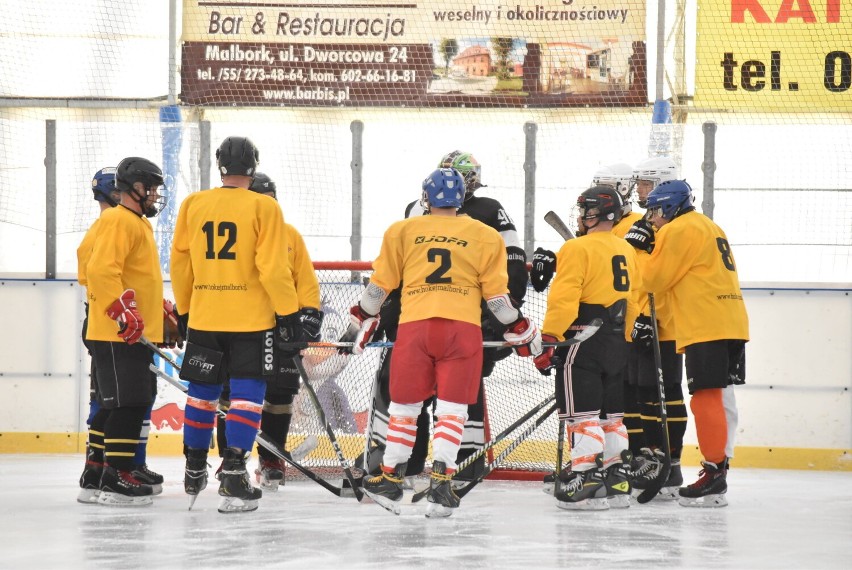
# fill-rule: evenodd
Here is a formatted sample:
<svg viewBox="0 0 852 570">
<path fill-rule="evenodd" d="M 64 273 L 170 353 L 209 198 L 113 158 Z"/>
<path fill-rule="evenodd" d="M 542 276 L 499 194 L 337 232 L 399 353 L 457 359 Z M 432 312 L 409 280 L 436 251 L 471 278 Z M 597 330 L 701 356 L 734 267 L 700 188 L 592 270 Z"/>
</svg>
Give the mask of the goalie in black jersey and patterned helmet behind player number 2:
<svg viewBox="0 0 852 570">
<path fill-rule="evenodd" d="M 467 214 L 474 220 L 478 220 L 485 225 L 494 228 L 502 236 L 506 244 L 506 267 L 509 273 L 509 295 L 517 307 L 523 303 L 527 293 L 527 256 L 521 246 L 518 231 L 512 218 L 503 208 L 503 205 L 493 199 L 482 196 L 477 196 L 474 193 L 479 188 L 485 187 L 480 178 L 482 167 L 479 162 L 469 152 L 455 150 L 446 154 L 438 163 L 440 168 L 454 168 L 461 173 L 465 183 L 464 203 L 458 210 L 458 213 Z M 424 204 L 420 200 L 411 202 L 405 208 L 405 217 L 411 218 L 414 216 L 422 216 L 426 213 Z M 399 290 L 393 291 L 385 300 L 381 309 L 381 318 L 379 321 L 380 330 L 377 331 L 374 338 L 381 338 L 381 334 L 387 337 L 388 340 L 396 340 L 396 328 L 399 321 L 400 311 Z M 488 311 L 483 303 L 482 308 L 482 340 L 503 340 L 503 333 L 506 327 L 502 325 Z M 494 370 L 495 364 L 508 357 L 512 353 L 509 348 L 487 348 L 483 351 L 482 361 L 482 379 L 487 378 Z M 382 359 L 382 365 L 379 370 L 379 390 L 376 392 L 376 397 L 373 402 L 373 417 L 372 417 L 372 452 L 370 454 L 367 469 L 371 473 L 377 473 L 379 464 L 381 463 L 385 436 L 388 427 L 388 404 L 390 403 L 389 382 L 390 382 L 390 354 L 388 350 Z M 485 407 L 484 382 L 480 383 L 479 395 L 476 403 L 468 407 L 468 419 L 464 425 L 464 433 L 462 435 L 461 448 L 457 461 L 461 463 L 467 457 L 470 457 L 478 449 L 485 445 Z M 417 440 L 414 445 L 414 451 L 408 461 L 406 476 L 418 475 L 423 471 L 426 464 L 426 455 L 428 454 L 429 444 L 429 410 L 430 402 L 426 402 L 420 417 L 417 420 Z M 454 476 L 454 479 L 459 481 L 469 481 L 476 479 L 482 474 L 485 469 L 485 457 L 481 457 L 471 466 L 463 469 Z"/>
</svg>

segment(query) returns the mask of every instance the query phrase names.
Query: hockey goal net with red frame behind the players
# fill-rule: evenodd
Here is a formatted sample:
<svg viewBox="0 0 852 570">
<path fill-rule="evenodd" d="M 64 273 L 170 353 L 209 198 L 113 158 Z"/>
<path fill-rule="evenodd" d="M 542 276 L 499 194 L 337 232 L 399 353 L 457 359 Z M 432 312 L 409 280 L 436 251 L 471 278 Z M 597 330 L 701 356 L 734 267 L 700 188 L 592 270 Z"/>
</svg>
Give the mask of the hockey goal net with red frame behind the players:
<svg viewBox="0 0 852 570">
<path fill-rule="evenodd" d="M 369 262 L 350 261 L 317 262 L 314 266 L 325 312 L 322 337 L 324 341 L 333 342 L 348 326 L 349 307 L 360 298 L 370 276 L 371 265 Z M 524 314 L 541 323 L 545 303 L 545 293 L 530 289 L 523 307 Z M 304 353 L 303 362 L 311 385 L 350 464 L 365 450 L 374 386 L 386 350 L 368 348 L 360 356 L 338 354 L 335 349 L 326 348 L 313 348 Z M 485 379 L 485 440 L 503 432 L 546 400 L 553 391 L 552 377 L 539 374 L 531 359 L 512 354 L 499 361 Z M 306 390 L 300 391 L 293 407 L 288 451 L 324 477 L 342 478 L 337 455 Z M 495 446 L 487 456 L 489 463 L 512 445 L 517 435 L 539 415 L 541 413 Z M 543 472 L 553 470 L 557 434 L 558 420 L 553 414 L 500 462 L 491 478 L 535 479 L 540 478 Z M 294 469 L 288 469 L 287 474 L 288 478 L 301 476 Z"/>
</svg>

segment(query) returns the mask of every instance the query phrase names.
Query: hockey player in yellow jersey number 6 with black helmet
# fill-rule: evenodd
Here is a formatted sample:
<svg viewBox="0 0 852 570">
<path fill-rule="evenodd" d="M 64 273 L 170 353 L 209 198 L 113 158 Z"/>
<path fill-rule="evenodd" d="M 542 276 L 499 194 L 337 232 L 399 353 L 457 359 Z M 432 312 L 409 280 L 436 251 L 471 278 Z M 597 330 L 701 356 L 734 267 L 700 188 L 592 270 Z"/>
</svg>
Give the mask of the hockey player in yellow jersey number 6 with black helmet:
<svg viewBox="0 0 852 570">
<path fill-rule="evenodd" d="M 621 196 L 595 186 L 578 200 L 578 237 L 557 253 L 559 272 L 547 296 L 542 339 L 557 342 L 594 318 L 601 329 L 581 345 L 547 348 L 535 359 L 545 374 L 556 368 L 556 402 L 567 422 L 571 468 L 556 481 L 557 506 L 602 510 L 608 497 L 629 506 L 623 389 L 627 366 L 625 321 L 639 285 L 635 255 L 612 233 L 622 215 Z M 561 467 L 561 466 L 560 466 Z"/>
</svg>

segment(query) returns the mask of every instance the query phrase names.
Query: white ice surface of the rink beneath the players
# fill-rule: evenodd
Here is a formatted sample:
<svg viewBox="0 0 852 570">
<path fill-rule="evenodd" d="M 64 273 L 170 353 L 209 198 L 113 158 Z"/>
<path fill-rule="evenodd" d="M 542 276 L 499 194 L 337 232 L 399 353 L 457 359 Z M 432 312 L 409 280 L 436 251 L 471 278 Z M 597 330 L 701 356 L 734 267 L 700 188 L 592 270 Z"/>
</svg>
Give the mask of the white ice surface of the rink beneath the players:
<svg viewBox="0 0 852 570">
<path fill-rule="evenodd" d="M 188 512 L 183 458 L 148 464 L 166 477 L 163 494 L 121 509 L 76 502 L 82 455 L 0 455 L 0 568 L 822 569 L 849 568 L 852 554 L 849 473 L 734 465 L 728 507 L 605 512 L 557 509 L 538 483 L 486 482 L 452 517 L 427 519 L 425 501 L 395 517 L 311 481 L 222 515 L 211 480 Z"/>
</svg>

